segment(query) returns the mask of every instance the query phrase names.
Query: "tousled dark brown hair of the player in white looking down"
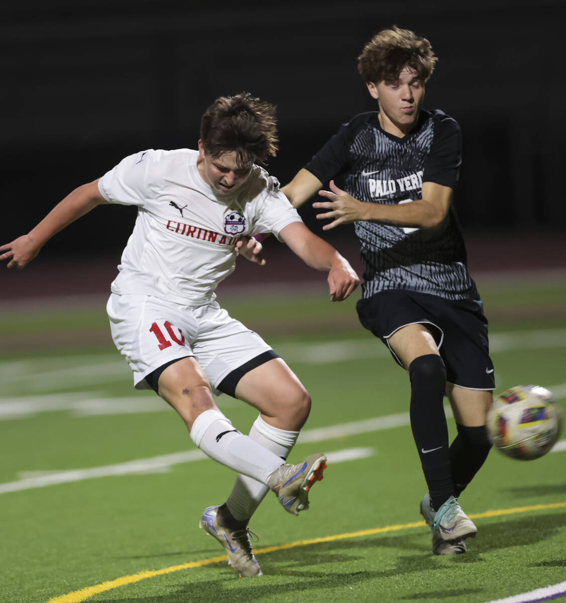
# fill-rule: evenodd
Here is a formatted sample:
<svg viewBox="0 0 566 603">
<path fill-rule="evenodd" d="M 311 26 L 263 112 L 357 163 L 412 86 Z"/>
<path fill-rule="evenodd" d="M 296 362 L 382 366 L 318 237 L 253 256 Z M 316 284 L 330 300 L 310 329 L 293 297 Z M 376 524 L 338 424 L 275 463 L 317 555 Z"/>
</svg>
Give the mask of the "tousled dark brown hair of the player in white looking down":
<svg viewBox="0 0 566 603">
<path fill-rule="evenodd" d="M 220 96 L 200 120 L 200 139 L 212 157 L 235 151 L 238 166 L 265 163 L 278 149 L 275 106 L 249 92 Z"/>
</svg>

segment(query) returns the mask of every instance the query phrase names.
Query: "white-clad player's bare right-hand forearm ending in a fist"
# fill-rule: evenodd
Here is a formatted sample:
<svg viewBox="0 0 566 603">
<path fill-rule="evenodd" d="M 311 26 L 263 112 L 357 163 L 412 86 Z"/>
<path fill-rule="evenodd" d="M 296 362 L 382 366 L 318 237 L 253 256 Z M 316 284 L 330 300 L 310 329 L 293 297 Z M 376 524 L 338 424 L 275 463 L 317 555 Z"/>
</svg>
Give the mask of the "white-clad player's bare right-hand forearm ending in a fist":
<svg viewBox="0 0 566 603">
<path fill-rule="evenodd" d="M 288 224 L 281 230 L 279 237 L 305 264 L 328 272 L 331 301 L 345 300 L 359 285 L 360 279 L 348 260 L 332 245 L 312 233 L 302 222 Z"/>
</svg>

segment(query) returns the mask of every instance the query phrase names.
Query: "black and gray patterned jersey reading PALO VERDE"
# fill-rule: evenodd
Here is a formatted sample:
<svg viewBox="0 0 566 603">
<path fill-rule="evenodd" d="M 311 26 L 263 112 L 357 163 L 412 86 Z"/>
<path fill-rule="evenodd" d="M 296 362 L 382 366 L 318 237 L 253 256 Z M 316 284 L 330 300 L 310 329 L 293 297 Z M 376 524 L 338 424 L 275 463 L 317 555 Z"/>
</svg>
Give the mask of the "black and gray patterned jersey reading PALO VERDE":
<svg viewBox="0 0 566 603">
<path fill-rule="evenodd" d="M 342 125 L 305 169 L 322 183 L 342 174 L 345 190 L 360 201 L 409 203 L 421 198 L 423 182 L 454 189 L 461 154 L 459 125 L 442 111 L 421 111 L 404 138 L 382 130 L 378 112 L 370 112 Z M 365 267 L 364 298 L 409 289 L 449 300 L 479 299 L 453 204 L 438 229 L 361 221 L 355 232 Z"/>
</svg>

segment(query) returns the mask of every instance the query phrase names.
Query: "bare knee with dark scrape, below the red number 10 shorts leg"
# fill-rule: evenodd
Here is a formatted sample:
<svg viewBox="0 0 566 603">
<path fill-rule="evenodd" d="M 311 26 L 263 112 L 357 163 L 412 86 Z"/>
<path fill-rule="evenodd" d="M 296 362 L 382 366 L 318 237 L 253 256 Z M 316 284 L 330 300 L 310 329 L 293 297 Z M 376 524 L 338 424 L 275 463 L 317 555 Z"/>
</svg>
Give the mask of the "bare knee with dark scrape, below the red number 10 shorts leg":
<svg viewBox="0 0 566 603">
<path fill-rule="evenodd" d="M 194 357 L 170 364 L 159 376 L 159 396 L 180 414 L 188 428 L 201 414 L 217 406 L 205 371 Z"/>
</svg>

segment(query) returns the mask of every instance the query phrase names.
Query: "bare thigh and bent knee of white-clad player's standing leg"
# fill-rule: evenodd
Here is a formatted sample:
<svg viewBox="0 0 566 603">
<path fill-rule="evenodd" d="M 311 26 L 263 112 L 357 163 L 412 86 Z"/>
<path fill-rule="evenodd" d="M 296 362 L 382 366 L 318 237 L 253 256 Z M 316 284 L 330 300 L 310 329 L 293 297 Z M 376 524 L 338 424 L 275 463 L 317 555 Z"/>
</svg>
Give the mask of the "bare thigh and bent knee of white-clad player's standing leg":
<svg viewBox="0 0 566 603">
<path fill-rule="evenodd" d="M 307 390 L 282 358 L 273 358 L 244 374 L 235 395 L 257 408 L 270 425 L 289 431 L 302 428 L 311 407 Z"/>
</svg>

